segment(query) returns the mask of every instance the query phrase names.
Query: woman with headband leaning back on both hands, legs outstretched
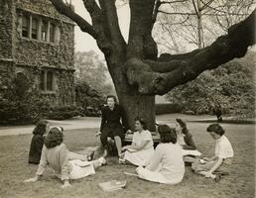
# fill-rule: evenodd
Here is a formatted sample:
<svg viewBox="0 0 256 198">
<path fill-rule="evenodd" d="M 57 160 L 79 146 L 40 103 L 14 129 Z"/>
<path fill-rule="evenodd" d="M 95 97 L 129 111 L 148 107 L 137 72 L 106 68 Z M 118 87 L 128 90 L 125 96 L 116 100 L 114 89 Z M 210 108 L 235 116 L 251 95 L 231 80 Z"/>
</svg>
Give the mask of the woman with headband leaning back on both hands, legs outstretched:
<svg viewBox="0 0 256 198">
<path fill-rule="evenodd" d="M 70 152 L 63 142 L 64 134 L 62 129 L 60 127 L 52 128 L 46 137 L 36 175 L 24 182 L 34 182 L 39 180 L 47 165 L 49 165 L 64 182 L 62 187 L 66 188 L 70 186 L 70 179 L 79 179 L 95 174 L 95 168 L 106 164 L 104 157 L 92 161 L 82 161 L 82 159 L 86 160 L 87 157 Z"/>
</svg>

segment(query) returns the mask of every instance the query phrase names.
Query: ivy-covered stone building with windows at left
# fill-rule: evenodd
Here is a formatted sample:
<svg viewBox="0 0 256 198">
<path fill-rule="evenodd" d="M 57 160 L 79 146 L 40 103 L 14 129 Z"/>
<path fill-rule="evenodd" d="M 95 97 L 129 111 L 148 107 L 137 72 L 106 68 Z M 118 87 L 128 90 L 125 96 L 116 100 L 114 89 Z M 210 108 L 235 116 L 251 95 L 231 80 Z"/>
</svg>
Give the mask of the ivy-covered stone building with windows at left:
<svg viewBox="0 0 256 198">
<path fill-rule="evenodd" d="M 23 76 L 39 97 L 74 104 L 74 24 L 49 0 L 0 0 L 0 98 Z"/>
</svg>

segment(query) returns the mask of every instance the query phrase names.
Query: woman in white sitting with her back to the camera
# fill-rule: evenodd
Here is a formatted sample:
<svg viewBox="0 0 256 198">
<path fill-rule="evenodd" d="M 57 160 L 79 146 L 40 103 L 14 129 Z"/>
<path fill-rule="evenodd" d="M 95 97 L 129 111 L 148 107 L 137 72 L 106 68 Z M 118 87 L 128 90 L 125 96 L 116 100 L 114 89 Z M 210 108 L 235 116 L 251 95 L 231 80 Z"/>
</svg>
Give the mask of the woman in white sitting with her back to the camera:
<svg viewBox="0 0 256 198">
<path fill-rule="evenodd" d="M 185 164 L 183 150 L 176 144 L 177 136 L 175 129 L 167 125 L 158 128 L 160 144 L 157 146 L 150 163 L 144 168 L 139 166 L 136 172 L 139 177 L 145 180 L 176 184 L 183 180 Z"/>
</svg>

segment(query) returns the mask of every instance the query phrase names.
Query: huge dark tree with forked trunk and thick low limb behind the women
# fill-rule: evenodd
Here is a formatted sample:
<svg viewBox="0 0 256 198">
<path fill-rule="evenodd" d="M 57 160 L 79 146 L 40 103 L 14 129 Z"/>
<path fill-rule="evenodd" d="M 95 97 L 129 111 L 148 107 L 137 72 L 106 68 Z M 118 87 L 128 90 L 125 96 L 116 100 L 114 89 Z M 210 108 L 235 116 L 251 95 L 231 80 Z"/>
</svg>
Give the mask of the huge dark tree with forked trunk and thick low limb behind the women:
<svg viewBox="0 0 256 198">
<path fill-rule="evenodd" d="M 127 43 L 120 32 L 115 0 L 83 0 L 91 24 L 75 14 L 63 0 L 50 1 L 81 31 L 96 40 L 98 48 L 105 55 L 129 127 L 133 127 L 135 116 L 142 116 L 149 122 L 150 129 L 154 130 L 156 94 L 163 95 L 196 78 L 206 69 L 243 56 L 247 48 L 255 43 L 254 11 L 209 47 L 158 57 L 152 29 L 162 4 L 160 0 L 129 0 L 131 18 Z"/>
</svg>

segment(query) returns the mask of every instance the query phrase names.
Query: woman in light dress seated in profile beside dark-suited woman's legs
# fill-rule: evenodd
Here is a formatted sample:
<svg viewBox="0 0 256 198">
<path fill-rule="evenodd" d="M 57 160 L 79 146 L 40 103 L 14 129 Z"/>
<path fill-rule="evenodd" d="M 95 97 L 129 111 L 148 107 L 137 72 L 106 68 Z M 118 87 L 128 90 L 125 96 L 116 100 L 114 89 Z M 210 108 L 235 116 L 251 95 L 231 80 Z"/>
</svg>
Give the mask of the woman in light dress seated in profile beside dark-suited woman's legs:
<svg viewBox="0 0 256 198">
<path fill-rule="evenodd" d="M 119 163 L 129 161 L 134 165 L 146 165 L 154 153 L 151 133 L 147 130 L 146 122 L 143 119 L 135 119 L 135 133 L 132 145 L 122 148 L 122 156 Z"/>
</svg>

